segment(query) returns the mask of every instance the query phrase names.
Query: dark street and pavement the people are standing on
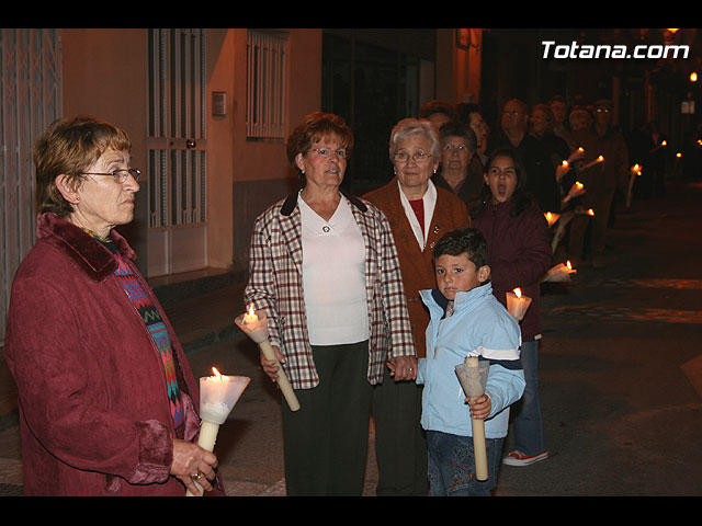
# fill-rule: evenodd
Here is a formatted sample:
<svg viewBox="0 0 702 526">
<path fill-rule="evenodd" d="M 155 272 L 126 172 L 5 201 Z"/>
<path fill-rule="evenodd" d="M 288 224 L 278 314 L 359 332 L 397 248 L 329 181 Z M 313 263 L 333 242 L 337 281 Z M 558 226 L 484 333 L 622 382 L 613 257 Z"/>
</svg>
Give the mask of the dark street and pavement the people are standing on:
<svg viewBox="0 0 702 526">
<path fill-rule="evenodd" d="M 702 183 L 620 210 L 605 267 L 544 284 L 540 391 L 550 457 L 502 466 L 496 496 L 702 495 Z M 156 288 L 158 291 L 158 288 Z M 251 378 L 216 454 L 228 495 L 283 496 L 281 397 L 233 319 L 234 281 L 173 301 L 195 376 Z M 374 495 L 374 432 L 364 495 Z M 510 434 L 507 449 L 512 445 Z M 16 392 L 0 362 L 0 495 L 22 494 Z"/>
</svg>

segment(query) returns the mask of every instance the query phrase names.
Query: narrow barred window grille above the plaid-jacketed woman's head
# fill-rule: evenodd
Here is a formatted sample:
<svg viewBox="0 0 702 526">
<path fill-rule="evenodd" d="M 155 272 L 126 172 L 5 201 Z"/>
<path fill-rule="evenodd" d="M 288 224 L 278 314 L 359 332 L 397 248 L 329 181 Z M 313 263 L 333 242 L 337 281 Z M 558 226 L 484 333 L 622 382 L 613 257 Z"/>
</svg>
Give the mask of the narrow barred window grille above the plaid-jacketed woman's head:
<svg viewBox="0 0 702 526">
<path fill-rule="evenodd" d="M 247 137 L 284 138 L 287 35 L 249 30 L 247 60 Z"/>
</svg>

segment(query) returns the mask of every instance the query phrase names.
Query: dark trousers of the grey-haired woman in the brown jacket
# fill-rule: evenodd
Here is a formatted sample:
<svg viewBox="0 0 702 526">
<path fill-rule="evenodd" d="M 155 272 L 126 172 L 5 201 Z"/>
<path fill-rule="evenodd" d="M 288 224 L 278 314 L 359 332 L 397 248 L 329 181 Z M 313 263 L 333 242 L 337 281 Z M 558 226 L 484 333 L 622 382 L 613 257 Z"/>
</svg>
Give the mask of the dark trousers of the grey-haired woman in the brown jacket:
<svg viewBox="0 0 702 526">
<path fill-rule="evenodd" d="M 426 496 L 429 491 L 427 437 L 419 423 L 422 389 L 414 381 L 395 381 L 387 368 L 383 384 L 373 387 L 378 496 Z"/>
</svg>

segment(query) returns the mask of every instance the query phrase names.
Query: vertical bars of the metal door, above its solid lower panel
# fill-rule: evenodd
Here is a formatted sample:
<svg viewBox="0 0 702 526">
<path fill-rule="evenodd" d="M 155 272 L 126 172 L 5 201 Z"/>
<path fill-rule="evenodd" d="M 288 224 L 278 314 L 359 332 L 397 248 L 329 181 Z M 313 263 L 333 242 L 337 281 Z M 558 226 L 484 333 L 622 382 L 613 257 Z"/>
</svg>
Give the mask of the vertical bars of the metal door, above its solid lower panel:
<svg viewBox="0 0 702 526">
<path fill-rule="evenodd" d="M 149 226 L 207 220 L 204 30 L 149 30 Z"/>
</svg>

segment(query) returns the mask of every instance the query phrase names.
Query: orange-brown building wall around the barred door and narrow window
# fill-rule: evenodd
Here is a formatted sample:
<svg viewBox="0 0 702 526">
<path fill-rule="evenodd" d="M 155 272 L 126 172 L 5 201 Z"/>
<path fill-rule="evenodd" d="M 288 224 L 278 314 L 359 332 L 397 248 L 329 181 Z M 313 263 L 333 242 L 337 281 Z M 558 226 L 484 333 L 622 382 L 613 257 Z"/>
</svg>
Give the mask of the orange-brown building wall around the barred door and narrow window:
<svg viewBox="0 0 702 526">
<path fill-rule="evenodd" d="M 321 100 L 321 30 L 290 34 L 287 132 Z M 134 167 L 146 165 L 147 30 L 65 28 L 64 116 L 91 114 L 116 124 L 133 140 Z M 207 155 L 210 266 L 244 270 L 256 216 L 296 187 L 284 140 L 246 138 L 247 30 L 207 31 Z M 224 117 L 212 115 L 212 93 L 227 94 Z M 121 231 L 145 272 L 146 194 L 135 220 Z"/>
</svg>

